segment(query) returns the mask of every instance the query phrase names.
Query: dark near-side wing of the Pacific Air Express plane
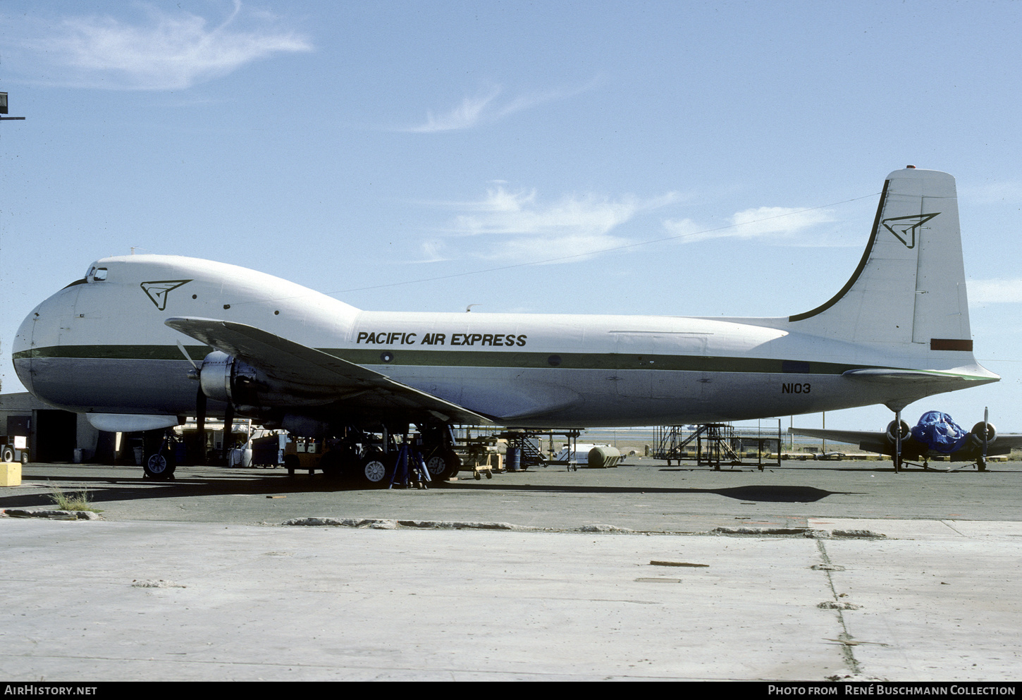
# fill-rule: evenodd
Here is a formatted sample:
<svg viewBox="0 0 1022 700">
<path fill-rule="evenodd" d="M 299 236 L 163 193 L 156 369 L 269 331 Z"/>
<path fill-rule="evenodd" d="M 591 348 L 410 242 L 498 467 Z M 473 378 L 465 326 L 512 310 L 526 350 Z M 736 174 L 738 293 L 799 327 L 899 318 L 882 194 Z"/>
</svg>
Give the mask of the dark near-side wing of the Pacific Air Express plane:
<svg viewBox="0 0 1022 700">
<path fill-rule="evenodd" d="M 165 323 L 271 377 L 328 388 L 338 401 L 360 414 L 422 416 L 469 425 L 493 423 L 486 416 L 402 384 L 384 374 L 253 326 L 195 318 L 170 318 Z"/>
</svg>

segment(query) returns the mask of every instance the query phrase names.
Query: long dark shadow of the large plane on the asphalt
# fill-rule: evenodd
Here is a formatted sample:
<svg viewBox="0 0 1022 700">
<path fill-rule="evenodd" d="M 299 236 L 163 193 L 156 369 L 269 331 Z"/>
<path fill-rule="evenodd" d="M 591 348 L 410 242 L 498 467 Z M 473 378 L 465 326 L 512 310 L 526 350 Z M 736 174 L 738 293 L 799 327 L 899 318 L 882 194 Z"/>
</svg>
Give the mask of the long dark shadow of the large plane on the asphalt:
<svg viewBox="0 0 1022 700">
<path fill-rule="evenodd" d="M 217 470 L 211 475 L 188 475 L 173 481 L 150 481 L 137 476 L 124 478 L 89 475 L 55 475 L 44 479 L 27 479 L 40 486 L 60 488 L 66 495 L 76 495 L 83 488 L 88 492 L 90 503 L 100 505 L 114 501 L 141 501 L 164 498 L 189 498 L 200 496 L 259 496 L 304 493 L 345 493 L 376 491 L 366 488 L 354 479 L 328 478 L 283 474 L 253 476 L 250 472 L 232 474 L 227 470 Z M 396 488 L 399 486 L 394 486 Z M 404 486 L 400 486 L 404 487 Z M 722 488 L 690 488 L 671 486 L 606 486 L 599 484 L 528 484 L 514 483 L 507 479 L 473 481 L 434 482 L 430 486 L 438 491 L 500 491 L 532 492 L 548 494 L 642 494 L 642 495 L 696 495 L 715 494 L 737 501 L 760 503 L 815 503 L 832 495 L 854 495 L 852 492 L 830 492 L 814 486 L 801 485 L 745 485 Z M 54 507 L 52 492 L 0 497 L 0 508 Z"/>
</svg>

